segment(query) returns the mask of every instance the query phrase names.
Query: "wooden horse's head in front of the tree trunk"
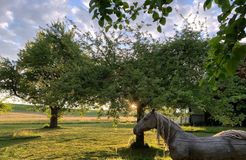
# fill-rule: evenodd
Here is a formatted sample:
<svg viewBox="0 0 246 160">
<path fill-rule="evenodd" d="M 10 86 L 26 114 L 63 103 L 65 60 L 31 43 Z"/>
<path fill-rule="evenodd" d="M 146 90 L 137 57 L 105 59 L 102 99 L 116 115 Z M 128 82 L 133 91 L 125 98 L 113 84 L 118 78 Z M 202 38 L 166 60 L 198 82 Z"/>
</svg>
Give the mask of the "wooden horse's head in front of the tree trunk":
<svg viewBox="0 0 246 160">
<path fill-rule="evenodd" d="M 148 113 L 144 118 L 142 118 L 136 126 L 133 128 L 134 134 L 141 134 L 144 131 L 148 131 L 150 129 L 157 127 L 157 120 L 155 110 L 153 109 L 150 113 Z"/>
</svg>

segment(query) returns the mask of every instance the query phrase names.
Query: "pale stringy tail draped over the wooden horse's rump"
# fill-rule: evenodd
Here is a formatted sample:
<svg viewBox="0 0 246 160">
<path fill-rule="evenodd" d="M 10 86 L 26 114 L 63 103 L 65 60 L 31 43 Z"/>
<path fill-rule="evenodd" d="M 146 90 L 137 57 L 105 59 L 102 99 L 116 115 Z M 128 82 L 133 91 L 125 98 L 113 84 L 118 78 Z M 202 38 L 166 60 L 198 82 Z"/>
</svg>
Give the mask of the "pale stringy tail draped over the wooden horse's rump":
<svg viewBox="0 0 246 160">
<path fill-rule="evenodd" d="M 227 130 L 227 131 L 219 132 L 214 135 L 214 137 L 219 137 L 219 136 L 246 140 L 246 131 Z"/>
</svg>

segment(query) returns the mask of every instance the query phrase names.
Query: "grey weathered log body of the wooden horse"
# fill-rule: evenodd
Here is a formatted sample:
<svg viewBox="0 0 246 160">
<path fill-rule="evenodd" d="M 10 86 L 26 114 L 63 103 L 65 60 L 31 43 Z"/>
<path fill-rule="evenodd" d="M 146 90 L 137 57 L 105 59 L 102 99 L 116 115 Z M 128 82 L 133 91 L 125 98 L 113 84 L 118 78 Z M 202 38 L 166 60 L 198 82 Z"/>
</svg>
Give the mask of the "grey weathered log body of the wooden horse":
<svg viewBox="0 0 246 160">
<path fill-rule="evenodd" d="M 246 140 L 230 137 L 191 137 L 177 139 L 175 143 L 176 154 L 173 155 L 177 158 L 177 155 L 183 154 L 188 160 L 246 160 Z"/>
</svg>

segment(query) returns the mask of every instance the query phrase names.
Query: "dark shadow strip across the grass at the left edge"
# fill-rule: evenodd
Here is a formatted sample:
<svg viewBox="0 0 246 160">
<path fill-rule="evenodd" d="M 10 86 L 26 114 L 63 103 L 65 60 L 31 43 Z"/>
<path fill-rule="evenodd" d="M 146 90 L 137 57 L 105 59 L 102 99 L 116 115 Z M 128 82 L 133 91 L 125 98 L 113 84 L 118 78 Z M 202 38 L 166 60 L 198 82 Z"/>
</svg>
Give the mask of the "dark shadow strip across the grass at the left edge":
<svg viewBox="0 0 246 160">
<path fill-rule="evenodd" d="M 14 144 L 28 142 L 28 141 L 31 141 L 37 138 L 41 138 L 41 136 L 21 136 L 21 137 L 13 137 L 11 135 L 1 136 L 0 137 L 0 148 L 8 147 Z"/>
</svg>

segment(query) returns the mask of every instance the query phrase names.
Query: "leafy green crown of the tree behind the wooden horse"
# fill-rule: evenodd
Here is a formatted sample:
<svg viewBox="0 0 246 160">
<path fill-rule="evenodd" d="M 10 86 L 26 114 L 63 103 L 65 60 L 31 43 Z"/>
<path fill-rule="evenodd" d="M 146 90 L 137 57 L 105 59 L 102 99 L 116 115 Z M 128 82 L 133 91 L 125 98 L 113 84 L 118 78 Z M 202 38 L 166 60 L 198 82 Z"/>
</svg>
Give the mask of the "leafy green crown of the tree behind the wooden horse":
<svg viewBox="0 0 246 160">
<path fill-rule="evenodd" d="M 199 80 L 205 72 L 207 40 L 188 24 L 164 43 L 140 29 L 81 35 L 82 48 L 100 64 L 97 97 L 109 106 L 108 115 L 129 113 L 132 104 L 202 109 Z"/>
</svg>

